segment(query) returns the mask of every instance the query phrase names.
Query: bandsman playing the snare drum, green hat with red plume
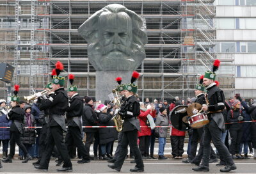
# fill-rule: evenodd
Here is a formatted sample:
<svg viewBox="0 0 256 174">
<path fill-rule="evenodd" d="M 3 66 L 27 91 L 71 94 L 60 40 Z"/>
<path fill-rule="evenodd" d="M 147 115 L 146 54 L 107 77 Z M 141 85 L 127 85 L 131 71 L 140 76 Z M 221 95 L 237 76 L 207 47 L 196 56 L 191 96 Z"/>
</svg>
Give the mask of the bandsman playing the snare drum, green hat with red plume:
<svg viewBox="0 0 256 174">
<path fill-rule="evenodd" d="M 203 105 L 202 109 L 205 112 L 209 112 L 207 115 L 209 118 L 209 123 L 204 127 L 204 155 L 202 162 L 198 168 L 193 168 L 194 171 L 209 171 L 209 157 L 211 153 L 211 140 L 214 146 L 217 148 L 218 152 L 223 155 L 223 159 L 227 166 L 221 169 L 221 172 L 228 172 L 231 170 L 236 170 L 236 164 L 232 159 L 232 156 L 228 152 L 227 146 L 221 141 L 221 131 L 225 131 L 225 122 L 221 111 L 225 108 L 224 93 L 220 88 L 214 83 L 216 77 L 216 70 L 220 66 L 220 61 L 216 59 L 213 64 L 212 71 L 205 72 L 204 75 L 204 86 L 207 90 L 207 105 Z"/>
</svg>

